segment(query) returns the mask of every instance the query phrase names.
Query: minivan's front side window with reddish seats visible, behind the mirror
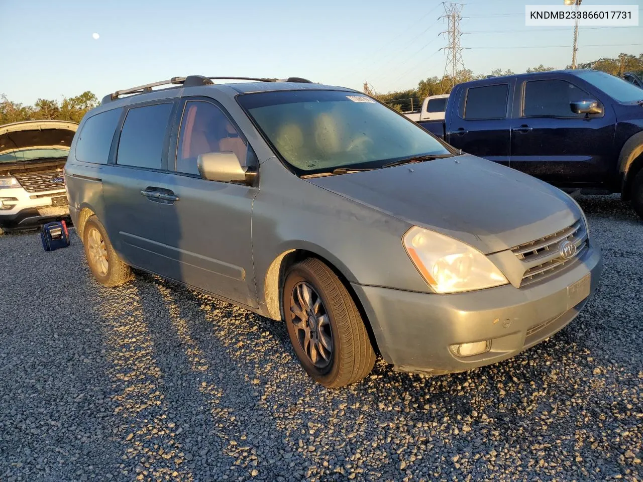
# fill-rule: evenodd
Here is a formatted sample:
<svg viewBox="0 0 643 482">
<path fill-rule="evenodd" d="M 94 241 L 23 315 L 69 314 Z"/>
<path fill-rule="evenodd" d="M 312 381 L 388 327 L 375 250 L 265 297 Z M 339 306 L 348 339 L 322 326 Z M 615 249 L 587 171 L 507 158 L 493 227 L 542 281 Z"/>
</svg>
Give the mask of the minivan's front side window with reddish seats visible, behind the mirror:
<svg viewBox="0 0 643 482">
<path fill-rule="evenodd" d="M 199 155 L 224 151 L 234 152 L 241 165 L 246 165 L 248 147 L 221 109 L 203 100 L 186 102 L 179 129 L 176 172 L 198 175 Z"/>
</svg>

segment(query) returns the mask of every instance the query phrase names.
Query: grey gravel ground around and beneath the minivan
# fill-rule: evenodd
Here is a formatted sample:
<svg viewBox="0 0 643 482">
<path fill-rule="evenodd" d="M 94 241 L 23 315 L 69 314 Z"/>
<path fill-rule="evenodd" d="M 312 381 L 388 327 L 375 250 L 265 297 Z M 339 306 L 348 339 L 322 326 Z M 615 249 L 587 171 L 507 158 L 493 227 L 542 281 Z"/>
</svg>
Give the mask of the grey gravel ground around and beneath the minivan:
<svg viewBox="0 0 643 482">
<path fill-rule="evenodd" d="M 428 378 L 378 361 L 314 384 L 284 326 L 147 274 L 117 289 L 80 240 L 0 238 L 0 481 L 643 479 L 643 224 L 579 199 L 601 286 L 552 339 Z"/>
</svg>

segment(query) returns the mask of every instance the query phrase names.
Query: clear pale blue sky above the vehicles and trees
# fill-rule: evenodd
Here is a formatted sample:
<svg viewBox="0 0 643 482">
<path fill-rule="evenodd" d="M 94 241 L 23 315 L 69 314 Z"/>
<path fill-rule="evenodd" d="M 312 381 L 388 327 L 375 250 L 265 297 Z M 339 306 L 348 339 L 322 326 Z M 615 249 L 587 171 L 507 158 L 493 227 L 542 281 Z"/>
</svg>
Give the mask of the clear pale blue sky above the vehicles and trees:
<svg viewBox="0 0 643 482">
<path fill-rule="evenodd" d="M 527 27 L 525 4 L 465 0 L 464 64 L 474 73 L 571 63 L 572 27 Z M 639 4 L 584 0 L 583 4 Z M 302 76 L 378 92 L 444 73 L 436 0 L 0 0 L 0 93 L 33 103 L 172 76 Z M 95 40 L 93 33 L 100 38 Z M 579 31 L 578 62 L 643 52 L 643 27 Z"/>
</svg>

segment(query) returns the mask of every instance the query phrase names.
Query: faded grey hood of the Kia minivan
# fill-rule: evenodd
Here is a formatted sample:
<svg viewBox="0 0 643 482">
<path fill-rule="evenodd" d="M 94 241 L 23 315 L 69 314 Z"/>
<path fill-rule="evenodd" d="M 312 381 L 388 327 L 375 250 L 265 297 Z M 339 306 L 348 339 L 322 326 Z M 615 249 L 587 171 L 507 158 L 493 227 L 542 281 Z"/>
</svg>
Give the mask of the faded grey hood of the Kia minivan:
<svg viewBox="0 0 643 482">
<path fill-rule="evenodd" d="M 581 217 L 561 190 L 468 154 L 306 180 L 485 254 L 545 237 Z"/>
</svg>

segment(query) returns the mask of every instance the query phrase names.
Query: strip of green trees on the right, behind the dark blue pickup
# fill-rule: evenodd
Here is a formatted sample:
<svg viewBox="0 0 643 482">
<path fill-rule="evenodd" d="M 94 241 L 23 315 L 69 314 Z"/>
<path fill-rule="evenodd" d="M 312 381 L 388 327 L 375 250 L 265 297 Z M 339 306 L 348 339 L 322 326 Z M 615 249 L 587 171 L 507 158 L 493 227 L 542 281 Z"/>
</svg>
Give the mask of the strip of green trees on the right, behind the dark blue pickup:
<svg viewBox="0 0 643 482">
<path fill-rule="evenodd" d="M 594 60 L 593 62 L 586 62 L 584 64 L 577 64 L 578 69 L 594 69 L 607 72 L 611 75 L 622 76 L 625 72 L 637 72 L 639 75 L 643 73 L 643 53 L 638 55 L 629 55 L 626 53 L 621 53 L 616 58 L 599 58 L 599 60 Z M 572 68 L 572 66 L 566 66 L 567 69 Z M 540 64 L 537 67 L 531 67 L 527 69 L 529 72 L 543 72 L 554 70 L 554 67 L 547 67 L 543 64 Z M 501 75 L 512 75 L 513 72 L 511 69 L 503 71 L 503 69 L 494 69 L 488 74 L 475 75 L 469 69 L 459 71 L 457 73 L 457 78 L 453 79 L 450 75 L 444 75 L 442 77 L 429 77 L 424 80 L 420 80 L 417 84 L 417 87 L 414 89 L 408 89 L 406 91 L 394 91 L 386 94 L 375 94 L 375 96 L 382 102 L 388 103 L 394 109 L 398 111 L 408 111 L 410 110 L 410 99 L 413 99 L 413 107 L 415 108 L 418 105 L 418 101 L 421 102 L 422 99 L 439 94 L 448 94 L 451 92 L 451 88 L 455 84 L 460 82 L 467 82 L 469 80 L 477 80 L 480 78 L 486 78 L 489 75 L 501 76 Z M 365 83 L 365 85 L 370 85 Z M 373 94 L 372 91 L 365 93 Z"/>
</svg>

